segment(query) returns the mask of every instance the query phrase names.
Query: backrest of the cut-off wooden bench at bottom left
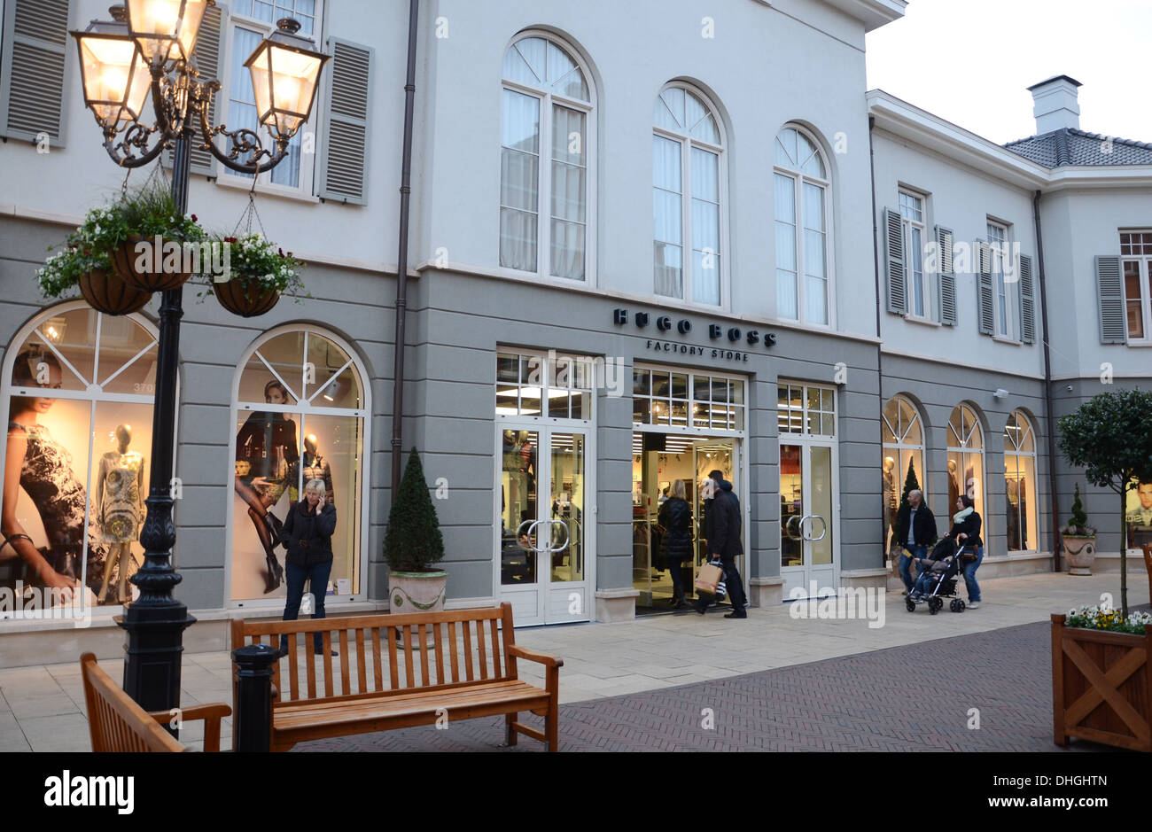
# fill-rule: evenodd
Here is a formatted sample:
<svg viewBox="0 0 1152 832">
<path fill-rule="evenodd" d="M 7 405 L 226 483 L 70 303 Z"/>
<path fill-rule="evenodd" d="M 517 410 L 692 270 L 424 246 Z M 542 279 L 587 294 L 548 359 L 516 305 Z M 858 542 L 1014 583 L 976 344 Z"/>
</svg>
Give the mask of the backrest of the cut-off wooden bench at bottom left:
<svg viewBox="0 0 1152 832">
<path fill-rule="evenodd" d="M 187 751 L 96 663 L 79 657 L 93 751 Z"/>
</svg>

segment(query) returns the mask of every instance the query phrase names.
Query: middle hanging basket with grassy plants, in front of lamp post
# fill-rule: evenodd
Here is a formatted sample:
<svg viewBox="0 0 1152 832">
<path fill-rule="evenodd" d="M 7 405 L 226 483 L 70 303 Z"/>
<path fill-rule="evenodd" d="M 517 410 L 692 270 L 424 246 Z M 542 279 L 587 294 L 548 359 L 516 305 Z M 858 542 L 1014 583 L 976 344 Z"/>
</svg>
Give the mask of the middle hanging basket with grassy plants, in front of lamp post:
<svg viewBox="0 0 1152 832">
<path fill-rule="evenodd" d="M 207 240 L 196 214 L 176 209 L 172 192 L 159 186 L 126 195 L 98 209 L 100 233 L 112 267 L 121 280 L 144 292 L 175 289 L 196 272 Z"/>
</svg>

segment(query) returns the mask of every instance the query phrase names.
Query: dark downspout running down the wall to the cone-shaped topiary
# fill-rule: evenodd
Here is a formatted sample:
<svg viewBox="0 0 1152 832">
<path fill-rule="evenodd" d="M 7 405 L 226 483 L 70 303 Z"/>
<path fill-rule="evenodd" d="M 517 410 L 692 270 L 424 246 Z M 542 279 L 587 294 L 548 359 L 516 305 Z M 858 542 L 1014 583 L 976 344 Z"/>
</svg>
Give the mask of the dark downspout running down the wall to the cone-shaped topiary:
<svg viewBox="0 0 1152 832">
<path fill-rule="evenodd" d="M 408 217 L 412 183 L 412 109 L 416 101 L 416 29 L 419 0 L 408 7 L 408 76 L 404 81 L 404 151 L 400 172 L 400 247 L 396 254 L 396 326 L 392 372 L 392 500 L 400 491 L 404 418 L 404 313 L 408 308 Z"/>
</svg>

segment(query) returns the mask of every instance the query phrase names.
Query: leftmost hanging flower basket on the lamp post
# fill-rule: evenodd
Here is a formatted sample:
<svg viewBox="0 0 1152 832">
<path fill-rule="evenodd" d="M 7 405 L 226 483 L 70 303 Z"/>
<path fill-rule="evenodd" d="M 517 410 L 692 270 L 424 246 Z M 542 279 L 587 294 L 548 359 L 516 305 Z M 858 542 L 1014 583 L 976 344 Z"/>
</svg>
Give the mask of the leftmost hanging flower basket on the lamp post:
<svg viewBox="0 0 1152 832">
<path fill-rule="evenodd" d="M 76 289 L 88 304 L 105 315 L 138 312 L 152 297 L 128 286 L 112 273 L 107 248 L 100 237 L 101 214 L 89 212 L 84 224 L 68 235 L 62 251 L 50 257 L 36 272 L 45 297 L 67 297 Z"/>
</svg>

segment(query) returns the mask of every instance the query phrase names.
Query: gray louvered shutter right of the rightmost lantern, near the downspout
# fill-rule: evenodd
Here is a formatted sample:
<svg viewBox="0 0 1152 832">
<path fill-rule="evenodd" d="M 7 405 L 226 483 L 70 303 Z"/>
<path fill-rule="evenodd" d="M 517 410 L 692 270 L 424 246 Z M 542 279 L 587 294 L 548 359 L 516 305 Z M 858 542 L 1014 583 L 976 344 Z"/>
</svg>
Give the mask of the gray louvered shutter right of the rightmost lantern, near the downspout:
<svg viewBox="0 0 1152 832">
<path fill-rule="evenodd" d="M 367 135 L 372 47 L 328 38 L 327 103 L 320 148 L 319 194 L 324 199 L 367 203 Z"/>
</svg>

